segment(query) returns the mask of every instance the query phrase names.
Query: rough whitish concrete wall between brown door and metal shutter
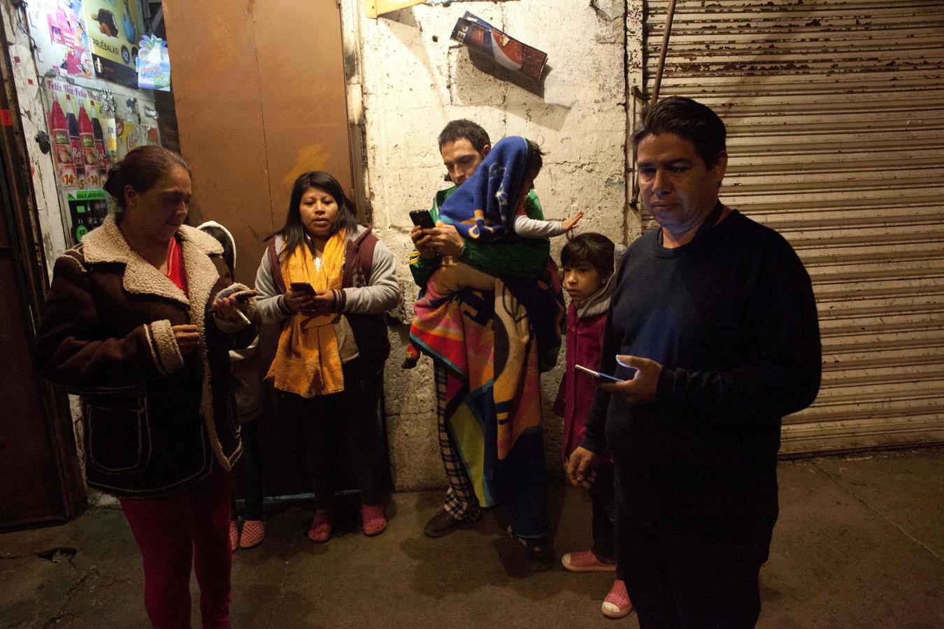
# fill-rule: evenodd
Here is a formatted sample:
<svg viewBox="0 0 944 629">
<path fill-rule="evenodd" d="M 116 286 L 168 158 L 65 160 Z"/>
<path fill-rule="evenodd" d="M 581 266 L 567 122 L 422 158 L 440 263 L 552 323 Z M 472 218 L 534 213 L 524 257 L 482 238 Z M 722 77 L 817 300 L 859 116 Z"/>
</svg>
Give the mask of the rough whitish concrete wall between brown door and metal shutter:
<svg viewBox="0 0 944 629">
<path fill-rule="evenodd" d="M 365 18 L 357 0 L 343 5 L 351 118 L 364 129 L 366 194 L 379 238 L 401 261 L 401 341 L 416 294 L 407 269 L 413 248 L 407 212 L 430 207 L 436 190 L 447 188 L 436 137 L 449 120 L 474 120 L 493 141 L 506 135 L 538 141 L 549 152 L 535 182 L 548 218 L 561 219 L 580 208 L 582 231 L 625 240 L 623 2 L 454 3 L 401 9 L 377 20 Z M 552 71 L 544 98 L 483 74 L 468 50 L 449 40 L 465 10 L 548 53 Z M 553 240 L 555 259 L 564 242 Z M 386 413 L 396 488 L 443 487 L 430 359 L 404 372 L 401 358 L 402 345 L 395 343 L 387 369 Z M 560 365 L 542 376 L 552 468 L 558 467 L 562 422 L 549 406 L 559 379 Z"/>
</svg>

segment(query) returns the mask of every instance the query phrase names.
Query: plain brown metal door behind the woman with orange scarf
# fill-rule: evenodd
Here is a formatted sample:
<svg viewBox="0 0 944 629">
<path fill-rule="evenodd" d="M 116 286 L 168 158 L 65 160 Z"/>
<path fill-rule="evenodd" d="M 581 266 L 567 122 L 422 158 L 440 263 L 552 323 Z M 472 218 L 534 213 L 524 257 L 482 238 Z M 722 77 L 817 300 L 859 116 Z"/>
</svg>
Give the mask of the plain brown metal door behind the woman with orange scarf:
<svg viewBox="0 0 944 629">
<path fill-rule="evenodd" d="M 295 177 L 333 174 L 350 194 L 341 16 L 330 1 L 164 0 L 191 223 L 226 225 L 252 284 Z"/>
</svg>

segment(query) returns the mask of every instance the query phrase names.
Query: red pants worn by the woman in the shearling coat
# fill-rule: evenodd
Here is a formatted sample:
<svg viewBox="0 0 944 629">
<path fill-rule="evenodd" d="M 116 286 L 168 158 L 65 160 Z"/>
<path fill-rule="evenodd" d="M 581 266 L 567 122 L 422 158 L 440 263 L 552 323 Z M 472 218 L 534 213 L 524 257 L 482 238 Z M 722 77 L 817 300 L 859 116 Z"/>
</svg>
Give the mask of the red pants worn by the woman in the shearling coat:
<svg viewBox="0 0 944 629">
<path fill-rule="evenodd" d="M 155 627 L 190 627 L 190 565 L 204 627 L 229 627 L 229 506 L 233 475 L 216 469 L 162 498 L 121 500 L 144 564 L 144 608 Z"/>
</svg>

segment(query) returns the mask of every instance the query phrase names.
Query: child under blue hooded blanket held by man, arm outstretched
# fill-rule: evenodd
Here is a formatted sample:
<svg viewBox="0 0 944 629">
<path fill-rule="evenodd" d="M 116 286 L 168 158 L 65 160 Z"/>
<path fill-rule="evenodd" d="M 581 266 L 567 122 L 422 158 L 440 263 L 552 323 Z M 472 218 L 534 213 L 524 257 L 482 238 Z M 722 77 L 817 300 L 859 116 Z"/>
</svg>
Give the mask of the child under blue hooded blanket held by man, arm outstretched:
<svg viewBox="0 0 944 629">
<path fill-rule="evenodd" d="M 525 198 L 534 188 L 544 155 L 537 143 L 525 138 L 510 136 L 498 141 L 475 174 L 443 204 L 439 221 L 455 226 L 465 240 L 483 242 L 547 239 L 571 231 L 580 222 L 582 211 L 563 221 L 529 215 L 533 206 L 526 204 Z M 447 256 L 427 283 L 424 303 L 434 303 L 463 289 L 495 290 L 495 280 L 495 276 Z M 412 369 L 419 356 L 419 350 L 410 342 L 403 369 Z"/>
</svg>

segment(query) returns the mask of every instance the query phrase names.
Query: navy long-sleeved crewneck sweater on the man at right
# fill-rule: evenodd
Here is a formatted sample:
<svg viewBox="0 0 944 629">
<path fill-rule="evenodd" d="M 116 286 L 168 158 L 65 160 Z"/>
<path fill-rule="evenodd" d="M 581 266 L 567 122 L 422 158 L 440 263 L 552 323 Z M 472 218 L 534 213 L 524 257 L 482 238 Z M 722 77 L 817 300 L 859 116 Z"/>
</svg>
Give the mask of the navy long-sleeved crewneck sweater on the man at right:
<svg viewBox="0 0 944 629">
<path fill-rule="evenodd" d="M 619 269 L 600 371 L 663 365 L 656 399 L 598 389 L 583 447 L 612 453 L 620 512 L 653 535 L 769 538 L 781 418 L 809 406 L 821 356 L 809 275 L 778 233 L 733 210 L 666 249 L 660 230 Z"/>
</svg>

